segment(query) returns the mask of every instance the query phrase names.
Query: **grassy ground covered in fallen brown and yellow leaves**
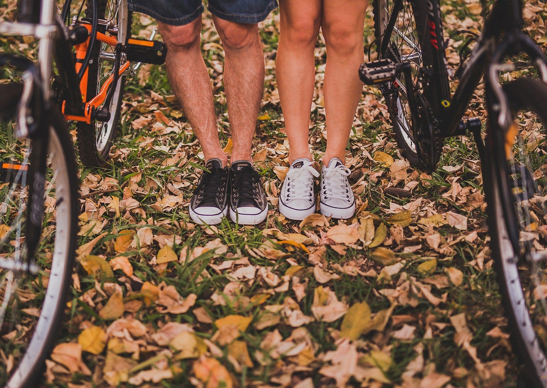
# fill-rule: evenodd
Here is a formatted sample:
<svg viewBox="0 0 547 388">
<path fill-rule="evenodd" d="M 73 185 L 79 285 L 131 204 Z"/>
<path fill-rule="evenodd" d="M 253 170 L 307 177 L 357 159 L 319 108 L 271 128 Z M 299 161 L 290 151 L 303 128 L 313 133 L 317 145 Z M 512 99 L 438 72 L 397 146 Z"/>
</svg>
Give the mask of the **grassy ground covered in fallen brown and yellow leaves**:
<svg viewBox="0 0 547 388">
<path fill-rule="evenodd" d="M 481 7 L 470 0 L 442 9 L 456 69 L 466 39 L 456 31 L 478 32 Z M 526 2 L 527 29 L 542 43 L 546 16 L 543 3 Z M 148 37 L 154 22 L 135 19 L 134 35 Z M 364 33 L 370 43 L 370 8 Z M 79 264 L 45 386 L 514 386 L 474 144 L 454 138 L 437 172 L 412 169 L 381 95 L 364 88 L 347 155 L 356 215 L 285 219 L 277 211 L 288 170 L 277 14 L 261 24 L 261 37 L 266 80 L 254 161 L 270 201 L 267 221 L 190 221 L 202 153 L 165 67 L 143 66 L 126 86 L 110 169 L 81 170 Z M 202 39 L 230 152 L 223 50 L 209 16 Z M 317 160 L 325 58 L 320 37 L 310 125 Z M 483 91 L 472 117 L 485 118 Z"/>
</svg>

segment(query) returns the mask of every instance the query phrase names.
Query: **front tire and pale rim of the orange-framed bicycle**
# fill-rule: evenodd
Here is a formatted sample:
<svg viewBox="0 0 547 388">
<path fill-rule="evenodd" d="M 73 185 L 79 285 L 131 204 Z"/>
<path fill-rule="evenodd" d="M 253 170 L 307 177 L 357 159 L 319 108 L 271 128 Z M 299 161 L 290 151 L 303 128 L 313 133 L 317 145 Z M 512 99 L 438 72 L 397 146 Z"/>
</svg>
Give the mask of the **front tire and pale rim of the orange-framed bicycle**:
<svg viewBox="0 0 547 388">
<path fill-rule="evenodd" d="M 52 104 L 53 106 L 53 104 Z M 66 297 L 74 269 L 74 256 L 78 233 L 78 187 L 77 164 L 72 138 L 65 117 L 57 107 L 49 114 L 50 142 L 49 159 L 51 176 L 55 180 L 55 241 L 51 256 L 49 281 L 40 315 L 37 318 L 26 352 L 9 375 L 2 373 L 0 386 L 5 388 L 28 388 L 38 386 L 45 368 L 45 360 L 57 338 L 61 319 L 65 314 Z M 38 255 L 37 255 L 38 256 Z M 34 276 L 34 275 L 33 275 Z M 5 290 L 4 290 L 5 297 Z M 9 302 L 9 301 L 8 301 Z M 10 310 L 14 309 L 11 304 Z M 5 322 L 5 321 L 3 321 Z M 3 329 L 0 327 L 0 329 Z M 2 348 L 10 341 L 2 341 Z M 15 346 L 15 345 L 14 345 Z M 3 349 L 5 351 L 5 349 Z M 9 378 L 9 380 L 7 380 Z M 5 380 L 7 380 L 7 383 Z M 4 380 L 2 382 L 2 380 Z"/>
</svg>

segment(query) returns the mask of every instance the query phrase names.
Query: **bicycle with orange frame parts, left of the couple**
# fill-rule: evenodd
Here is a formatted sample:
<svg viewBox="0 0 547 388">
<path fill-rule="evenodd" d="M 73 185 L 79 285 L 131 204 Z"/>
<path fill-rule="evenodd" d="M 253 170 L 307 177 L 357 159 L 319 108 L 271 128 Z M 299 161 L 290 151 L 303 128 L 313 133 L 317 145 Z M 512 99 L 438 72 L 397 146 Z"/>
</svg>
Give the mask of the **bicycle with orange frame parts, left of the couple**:
<svg viewBox="0 0 547 388">
<path fill-rule="evenodd" d="M 166 54 L 161 42 L 130 37 L 126 0 L 55 9 L 55 0 L 22 0 L 18 21 L 0 22 L 0 34 L 38 40 L 36 64 L 0 53 L 14 81 L 0 84 L 0 386 L 9 388 L 38 386 L 66 308 L 79 187 L 66 121 L 78 121 L 83 162 L 101 165 L 125 73 Z"/>
</svg>

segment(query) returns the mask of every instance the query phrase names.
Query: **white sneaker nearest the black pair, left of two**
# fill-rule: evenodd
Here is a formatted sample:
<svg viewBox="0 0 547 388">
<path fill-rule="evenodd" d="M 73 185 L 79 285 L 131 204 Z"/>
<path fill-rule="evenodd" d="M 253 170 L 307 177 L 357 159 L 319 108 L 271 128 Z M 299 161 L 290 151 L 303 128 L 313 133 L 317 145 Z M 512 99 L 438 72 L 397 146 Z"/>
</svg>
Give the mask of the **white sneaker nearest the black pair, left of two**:
<svg viewBox="0 0 547 388">
<path fill-rule="evenodd" d="M 293 161 L 279 197 L 279 211 L 283 216 L 300 221 L 315 213 L 313 177 L 318 176 L 319 172 L 313 168 L 310 159 L 300 158 Z"/>
</svg>

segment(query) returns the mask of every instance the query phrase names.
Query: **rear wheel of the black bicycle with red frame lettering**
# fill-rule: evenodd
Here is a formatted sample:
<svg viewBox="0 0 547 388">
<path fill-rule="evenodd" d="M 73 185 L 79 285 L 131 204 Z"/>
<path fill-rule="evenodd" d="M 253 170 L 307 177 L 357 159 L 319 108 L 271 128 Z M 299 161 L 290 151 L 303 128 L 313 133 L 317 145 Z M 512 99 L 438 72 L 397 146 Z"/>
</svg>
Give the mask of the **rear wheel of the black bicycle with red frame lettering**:
<svg viewBox="0 0 547 388">
<path fill-rule="evenodd" d="M 374 36 L 378 48 L 378 59 L 390 59 L 395 63 L 409 61 L 413 84 L 417 88 L 420 68 L 432 66 L 433 63 L 432 55 L 427 52 L 430 50 L 422 50 L 422 40 L 418 39 L 420 36 L 416 28 L 417 25 L 424 25 L 426 14 L 417 9 L 415 12 L 415 4 L 403 0 L 399 13 L 395 15 L 397 20 L 394 22 L 387 48 L 382 52 L 380 42 L 385 39 L 386 27 L 389 24 L 395 3 L 393 0 L 374 0 L 373 2 Z M 423 23 L 420 23 L 416 18 L 423 18 Z M 403 74 L 400 74 L 393 84 L 388 83 L 382 88 L 397 144 L 403 151 L 405 158 L 413 166 L 420 168 L 420 158 L 414 141 L 408 92 L 405 88 Z"/>
</svg>

